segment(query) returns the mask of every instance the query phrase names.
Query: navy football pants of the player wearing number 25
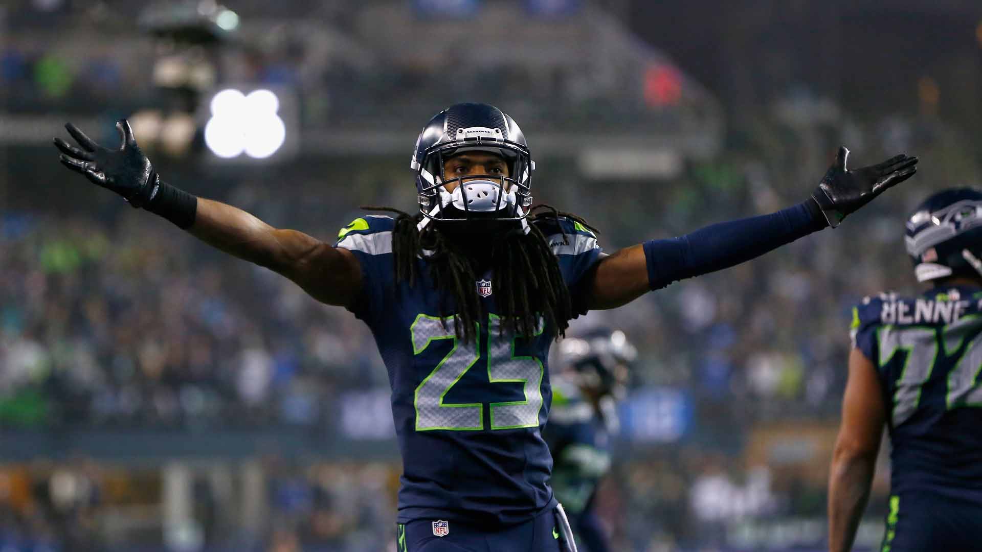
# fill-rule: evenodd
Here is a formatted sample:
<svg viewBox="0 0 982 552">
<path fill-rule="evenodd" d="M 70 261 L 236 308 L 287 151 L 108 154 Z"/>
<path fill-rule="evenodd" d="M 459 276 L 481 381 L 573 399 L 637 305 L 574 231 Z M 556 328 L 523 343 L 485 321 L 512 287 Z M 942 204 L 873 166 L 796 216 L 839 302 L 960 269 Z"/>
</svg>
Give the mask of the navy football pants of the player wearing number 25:
<svg viewBox="0 0 982 552">
<path fill-rule="evenodd" d="M 562 552 L 560 524 L 550 509 L 524 524 L 488 530 L 449 522 L 447 535 L 434 534 L 437 520 L 416 520 L 397 527 L 399 552 Z M 438 532 L 439 529 L 438 529 Z"/>
</svg>

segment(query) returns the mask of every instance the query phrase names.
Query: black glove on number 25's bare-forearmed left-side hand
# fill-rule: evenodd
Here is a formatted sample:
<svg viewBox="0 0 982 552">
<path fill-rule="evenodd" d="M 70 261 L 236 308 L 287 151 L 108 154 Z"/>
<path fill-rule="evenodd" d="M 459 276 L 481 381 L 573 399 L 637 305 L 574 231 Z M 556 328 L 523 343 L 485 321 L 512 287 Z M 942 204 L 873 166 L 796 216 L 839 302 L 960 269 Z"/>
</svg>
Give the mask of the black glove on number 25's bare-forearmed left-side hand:
<svg viewBox="0 0 982 552">
<path fill-rule="evenodd" d="M 62 151 L 63 165 L 85 175 L 92 183 L 119 193 L 134 207 L 142 207 L 153 199 L 160 188 L 159 178 L 150 160 L 136 145 L 133 129 L 126 119 L 116 123 L 123 140 L 119 149 L 102 147 L 71 123 L 66 123 L 65 129 L 82 149 L 55 138 L 55 145 Z"/>
</svg>

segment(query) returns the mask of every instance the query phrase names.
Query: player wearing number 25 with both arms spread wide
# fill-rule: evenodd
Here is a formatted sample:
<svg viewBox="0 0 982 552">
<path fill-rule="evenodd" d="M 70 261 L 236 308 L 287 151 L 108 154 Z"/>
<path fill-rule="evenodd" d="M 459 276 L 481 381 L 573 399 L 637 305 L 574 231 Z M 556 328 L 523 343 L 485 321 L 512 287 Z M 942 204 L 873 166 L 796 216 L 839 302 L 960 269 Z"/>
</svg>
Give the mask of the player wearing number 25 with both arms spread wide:
<svg viewBox="0 0 982 552">
<path fill-rule="evenodd" d="M 917 163 L 898 155 L 848 170 L 844 147 L 811 197 L 790 208 L 604 255 L 582 220 L 532 207 L 535 165 L 515 121 L 457 104 L 416 140 L 419 211 L 355 219 L 332 246 L 165 183 L 126 121 L 118 127 L 123 143 L 108 149 L 67 125 L 81 147 L 56 138 L 61 162 L 371 329 L 403 457 L 403 552 L 573 548 L 541 435 L 549 345 L 569 320 L 837 226 Z"/>
</svg>

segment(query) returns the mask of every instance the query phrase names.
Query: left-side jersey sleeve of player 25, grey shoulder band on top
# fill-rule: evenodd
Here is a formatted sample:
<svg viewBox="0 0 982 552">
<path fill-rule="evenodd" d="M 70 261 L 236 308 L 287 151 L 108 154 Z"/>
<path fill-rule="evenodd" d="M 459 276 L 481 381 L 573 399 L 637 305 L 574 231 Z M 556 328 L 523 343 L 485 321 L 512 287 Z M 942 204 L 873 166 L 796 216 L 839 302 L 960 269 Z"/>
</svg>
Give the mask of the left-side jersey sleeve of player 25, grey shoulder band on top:
<svg viewBox="0 0 982 552">
<path fill-rule="evenodd" d="M 335 244 L 337 248 L 352 251 L 361 265 L 361 292 L 349 310 L 369 325 L 383 310 L 394 286 L 393 228 L 392 217 L 359 217 L 338 232 L 338 243 Z"/>
</svg>

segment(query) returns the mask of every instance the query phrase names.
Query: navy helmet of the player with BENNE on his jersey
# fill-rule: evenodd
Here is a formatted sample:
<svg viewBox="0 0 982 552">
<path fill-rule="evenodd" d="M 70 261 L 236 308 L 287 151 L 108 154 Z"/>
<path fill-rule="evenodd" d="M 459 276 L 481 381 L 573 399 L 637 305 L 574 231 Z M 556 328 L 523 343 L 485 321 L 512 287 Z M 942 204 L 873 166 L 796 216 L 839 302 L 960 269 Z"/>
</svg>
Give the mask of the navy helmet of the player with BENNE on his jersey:
<svg viewBox="0 0 982 552">
<path fill-rule="evenodd" d="M 958 188 L 935 193 L 914 209 L 906 230 L 918 282 L 973 270 L 982 275 L 982 192 Z"/>
</svg>

